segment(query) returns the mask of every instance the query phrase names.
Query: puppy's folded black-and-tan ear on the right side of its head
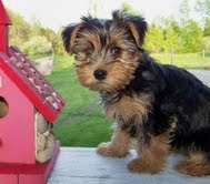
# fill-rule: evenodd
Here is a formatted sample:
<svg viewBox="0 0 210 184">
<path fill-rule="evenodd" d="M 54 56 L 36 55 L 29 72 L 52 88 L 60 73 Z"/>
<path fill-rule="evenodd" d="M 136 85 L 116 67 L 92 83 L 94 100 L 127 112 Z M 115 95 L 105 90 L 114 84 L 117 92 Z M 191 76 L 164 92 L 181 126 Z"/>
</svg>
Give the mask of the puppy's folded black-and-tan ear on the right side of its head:
<svg viewBox="0 0 210 184">
<path fill-rule="evenodd" d="M 134 38 L 136 44 L 142 49 L 146 32 L 148 30 L 147 22 L 141 17 L 128 17 L 128 28 Z"/>
</svg>

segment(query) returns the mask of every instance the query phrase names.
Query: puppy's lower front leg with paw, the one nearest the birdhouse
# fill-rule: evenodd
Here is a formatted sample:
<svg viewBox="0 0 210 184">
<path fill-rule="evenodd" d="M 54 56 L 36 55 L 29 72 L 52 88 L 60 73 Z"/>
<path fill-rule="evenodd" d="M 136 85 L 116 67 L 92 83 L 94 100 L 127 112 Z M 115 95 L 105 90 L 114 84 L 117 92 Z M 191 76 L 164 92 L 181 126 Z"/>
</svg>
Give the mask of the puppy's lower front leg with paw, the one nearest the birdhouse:
<svg viewBox="0 0 210 184">
<path fill-rule="evenodd" d="M 97 152 L 104 156 L 123 157 L 129 153 L 130 135 L 117 126 L 111 142 L 98 145 Z"/>
</svg>

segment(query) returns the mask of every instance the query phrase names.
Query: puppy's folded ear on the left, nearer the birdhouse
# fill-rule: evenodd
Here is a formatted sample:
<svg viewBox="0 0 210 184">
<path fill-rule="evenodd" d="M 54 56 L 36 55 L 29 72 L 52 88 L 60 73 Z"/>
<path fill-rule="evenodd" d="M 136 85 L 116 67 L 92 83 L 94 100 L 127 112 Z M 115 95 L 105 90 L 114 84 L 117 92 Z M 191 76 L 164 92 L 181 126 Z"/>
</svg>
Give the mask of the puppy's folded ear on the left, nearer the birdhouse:
<svg viewBox="0 0 210 184">
<path fill-rule="evenodd" d="M 67 52 L 72 53 L 72 47 L 76 42 L 76 38 L 83 23 L 66 27 L 61 33 L 63 45 Z"/>
</svg>

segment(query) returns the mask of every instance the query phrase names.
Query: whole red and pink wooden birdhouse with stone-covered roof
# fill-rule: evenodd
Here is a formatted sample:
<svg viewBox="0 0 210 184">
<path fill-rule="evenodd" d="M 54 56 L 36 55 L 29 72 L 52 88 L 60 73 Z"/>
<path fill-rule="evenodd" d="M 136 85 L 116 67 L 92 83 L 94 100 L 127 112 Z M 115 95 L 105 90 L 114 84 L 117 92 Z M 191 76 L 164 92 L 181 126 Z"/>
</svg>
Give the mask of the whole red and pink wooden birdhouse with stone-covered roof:
<svg viewBox="0 0 210 184">
<path fill-rule="evenodd" d="M 64 101 L 18 48 L 8 47 L 10 24 L 0 0 L 0 184 L 44 184 L 59 153 L 51 125 Z"/>
</svg>

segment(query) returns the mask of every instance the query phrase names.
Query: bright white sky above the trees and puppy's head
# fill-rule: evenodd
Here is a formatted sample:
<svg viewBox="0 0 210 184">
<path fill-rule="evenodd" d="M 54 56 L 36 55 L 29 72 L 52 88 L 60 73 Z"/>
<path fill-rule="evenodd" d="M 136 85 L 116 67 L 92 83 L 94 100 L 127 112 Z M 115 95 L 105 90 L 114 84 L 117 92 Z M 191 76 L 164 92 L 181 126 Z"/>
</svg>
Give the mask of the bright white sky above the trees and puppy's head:
<svg viewBox="0 0 210 184">
<path fill-rule="evenodd" d="M 93 0 L 2 0 L 7 8 L 18 12 L 27 21 L 39 20 L 44 28 L 54 31 L 69 23 L 78 22 L 90 11 Z M 157 17 L 178 16 L 181 0 L 98 0 L 98 17 L 110 18 L 111 12 L 128 2 L 140 11 L 148 22 Z"/>
</svg>

